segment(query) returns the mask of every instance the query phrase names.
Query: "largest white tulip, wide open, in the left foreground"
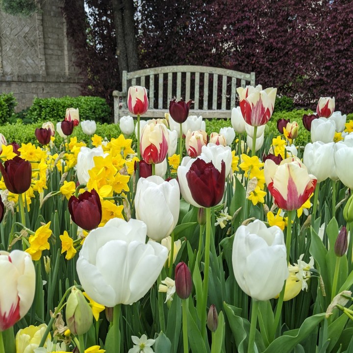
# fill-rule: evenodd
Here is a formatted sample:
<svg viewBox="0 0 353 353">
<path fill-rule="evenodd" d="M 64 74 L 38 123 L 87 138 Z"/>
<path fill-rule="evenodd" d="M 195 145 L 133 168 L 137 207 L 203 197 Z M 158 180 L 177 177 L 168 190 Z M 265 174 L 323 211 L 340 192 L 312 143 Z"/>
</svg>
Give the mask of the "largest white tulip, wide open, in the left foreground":
<svg viewBox="0 0 353 353">
<path fill-rule="evenodd" d="M 95 302 L 113 307 L 141 299 L 168 258 L 161 244 L 146 244 L 142 221 L 113 218 L 86 237 L 76 264 L 78 278 Z"/>
</svg>

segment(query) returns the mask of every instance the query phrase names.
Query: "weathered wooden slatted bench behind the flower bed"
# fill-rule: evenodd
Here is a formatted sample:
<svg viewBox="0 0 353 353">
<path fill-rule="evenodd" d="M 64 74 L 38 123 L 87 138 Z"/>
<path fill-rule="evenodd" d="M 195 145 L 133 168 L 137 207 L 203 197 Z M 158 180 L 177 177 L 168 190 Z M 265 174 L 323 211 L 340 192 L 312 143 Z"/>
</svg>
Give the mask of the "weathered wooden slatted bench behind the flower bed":
<svg viewBox="0 0 353 353">
<path fill-rule="evenodd" d="M 255 73 L 207 66 L 165 66 L 134 72 L 123 71 L 122 91 L 114 91 L 114 122 L 131 115 L 127 109 L 127 91 L 140 85 L 147 89 L 149 110 L 144 118 L 164 118 L 169 102 L 176 98 L 193 100 L 189 115 L 203 118 L 230 118 L 235 106 L 236 88 L 247 84 L 255 86 Z"/>
</svg>

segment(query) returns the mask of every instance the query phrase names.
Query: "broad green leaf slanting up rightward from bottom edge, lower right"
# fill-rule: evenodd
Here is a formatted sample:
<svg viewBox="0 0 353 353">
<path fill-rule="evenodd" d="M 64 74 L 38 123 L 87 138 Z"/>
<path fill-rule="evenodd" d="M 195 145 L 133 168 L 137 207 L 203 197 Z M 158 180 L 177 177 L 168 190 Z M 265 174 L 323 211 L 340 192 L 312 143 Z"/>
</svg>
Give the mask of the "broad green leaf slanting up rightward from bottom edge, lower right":
<svg viewBox="0 0 353 353">
<path fill-rule="evenodd" d="M 293 331 L 284 332 L 282 336 L 276 338 L 265 350 L 264 353 L 281 352 L 290 353 L 294 347 L 302 342 L 312 330 L 317 328 L 321 321 L 325 319 L 325 313 L 308 317 L 302 326 Z"/>
</svg>

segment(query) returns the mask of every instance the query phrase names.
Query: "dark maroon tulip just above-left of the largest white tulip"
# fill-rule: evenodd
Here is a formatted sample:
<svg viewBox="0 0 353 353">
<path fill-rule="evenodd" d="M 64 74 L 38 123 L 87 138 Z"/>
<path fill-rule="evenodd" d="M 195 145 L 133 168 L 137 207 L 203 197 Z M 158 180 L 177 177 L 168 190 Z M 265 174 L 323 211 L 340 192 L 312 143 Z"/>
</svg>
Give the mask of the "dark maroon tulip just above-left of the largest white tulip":
<svg viewBox="0 0 353 353">
<path fill-rule="evenodd" d="M 101 200 L 95 189 L 85 191 L 69 200 L 69 212 L 72 220 L 82 229 L 92 230 L 101 223 Z"/>
</svg>

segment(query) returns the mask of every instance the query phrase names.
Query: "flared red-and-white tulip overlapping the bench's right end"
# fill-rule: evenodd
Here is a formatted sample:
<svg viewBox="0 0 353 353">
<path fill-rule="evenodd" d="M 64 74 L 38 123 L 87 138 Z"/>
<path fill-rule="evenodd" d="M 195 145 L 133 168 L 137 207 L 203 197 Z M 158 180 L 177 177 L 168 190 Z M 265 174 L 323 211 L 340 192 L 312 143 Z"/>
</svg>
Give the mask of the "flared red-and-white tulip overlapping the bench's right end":
<svg viewBox="0 0 353 353">
<path fill-rule="evenodd" d="M 277 88 L 262 89 L 261 85 L 238 87 L 239 105 L 244 120 L 251 126 L 265 125 L 271 118 Z"/>
</svg>

